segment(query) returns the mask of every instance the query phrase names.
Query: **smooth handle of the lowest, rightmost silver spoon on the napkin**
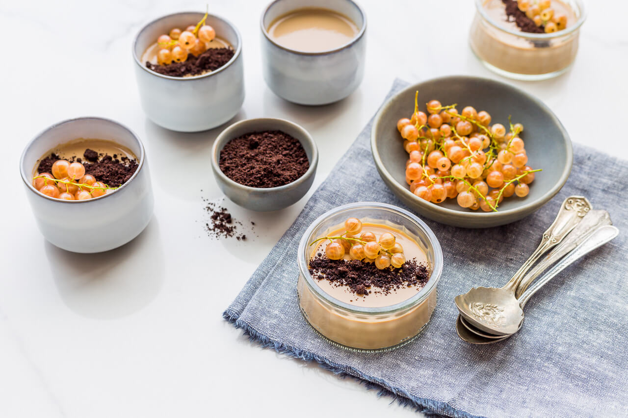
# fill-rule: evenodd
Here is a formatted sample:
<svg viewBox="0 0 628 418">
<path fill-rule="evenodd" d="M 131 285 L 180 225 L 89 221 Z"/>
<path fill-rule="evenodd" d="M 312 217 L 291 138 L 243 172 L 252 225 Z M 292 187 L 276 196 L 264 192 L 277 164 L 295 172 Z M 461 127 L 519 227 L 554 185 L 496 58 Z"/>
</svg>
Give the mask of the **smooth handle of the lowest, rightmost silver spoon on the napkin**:
<svg viewBox="0 0 628 418">
<path fill-rule="evenodd" d="M 554 267 L 548 270 L 541 279 L 539 279 L 536 283 L 533 284 L 528 290 L 523 292 L 521 297 L 519 297 L 519 305 L 521 305 L 521 309 L 526 305 L 526 302 L 530 299 L 530 297 L 536 293 L 544 284 L 549 282 L 556 274 L 565 270 L 573 262 L 582 258 L 584 255 L 587 255 L 589 252 L 597 249 L 598 247 L 602 247 L 602 245 L 606 244 L 613 238 L 617 237 L 619 234 L 619 229 L 612 225 L 604 225 L 602 227 L 597 228 L 597 230 L 593 231 L 591 235 L 589 235 L 585 240 L 578 245 L 574 250 L 572 250 L 566 257 Z"/>
</svg>

